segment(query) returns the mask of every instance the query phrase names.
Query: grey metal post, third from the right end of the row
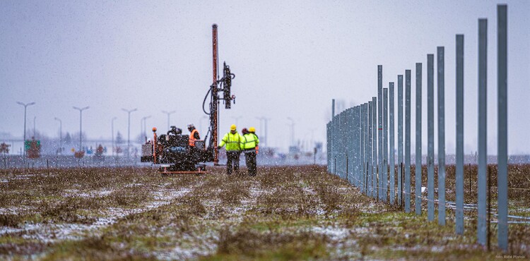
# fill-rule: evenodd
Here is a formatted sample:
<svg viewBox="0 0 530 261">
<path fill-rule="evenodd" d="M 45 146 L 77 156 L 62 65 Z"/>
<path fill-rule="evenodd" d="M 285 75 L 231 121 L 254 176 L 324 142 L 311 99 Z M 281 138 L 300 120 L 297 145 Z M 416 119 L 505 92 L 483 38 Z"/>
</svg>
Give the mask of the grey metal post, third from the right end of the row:
<svg viewBox="0 0 530 261">
<path fill-rule="evenodd" d="M 457 35 L 457 234 L 464 234 L 464 35 Z"/>
</svg>

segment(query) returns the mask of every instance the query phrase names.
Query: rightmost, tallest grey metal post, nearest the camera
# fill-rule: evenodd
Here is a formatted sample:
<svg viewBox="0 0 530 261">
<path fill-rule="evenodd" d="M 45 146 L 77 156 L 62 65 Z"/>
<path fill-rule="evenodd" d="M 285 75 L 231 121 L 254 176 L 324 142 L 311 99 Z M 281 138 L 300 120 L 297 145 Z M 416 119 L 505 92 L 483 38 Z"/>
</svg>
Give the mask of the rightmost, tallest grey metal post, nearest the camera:
<svg viewBox="0 0 530 261">
<path fill-rule="evenodd" d="M 497 240 L 499 248 L 508 250 L 508 14 L 505 4 L 497 6 L 497 99 L 498 99 L 498 152 L 497 152 L 497 188 L 499 229 Z"/>
</svg>

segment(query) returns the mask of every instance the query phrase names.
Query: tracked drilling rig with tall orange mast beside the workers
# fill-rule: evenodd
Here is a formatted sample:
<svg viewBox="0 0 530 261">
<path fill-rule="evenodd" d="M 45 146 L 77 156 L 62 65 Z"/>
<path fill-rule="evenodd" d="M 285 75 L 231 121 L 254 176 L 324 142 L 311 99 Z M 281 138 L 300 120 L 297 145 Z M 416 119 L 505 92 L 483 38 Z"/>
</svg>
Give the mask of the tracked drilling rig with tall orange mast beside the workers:
<svg viewBox="0 0 530 261">
<path fill-rule="evenodd" d="M 182 129 L 171 126 L 166 134 L 157 136 L 153 128 L 153 141 L 142 145 L 141 162 L 159 164 L 158 171 L 162 174 L 204 174 L 206 162 L 218 165 L 219 152 L 218 125 L 220 101 L 225 104 L 225 109 L 230 109 L 232 102 L 235 104 L 235 95 L 231 93 L 232 79 L 235 75 L 230 72 L 230 66 L 223 63 L 223 77 L 218 75 L 218 42 L 217 25 L 212 25 L 212 54 L 213 54 L 213 80 L 206 92 L 202 109 L 210 119 L 210 126 L 204 140 L 194 140 L 195 146 L 189 145 L 189 135 L 183 135 Z M 208 108 L 206 102 L 208 97 Z M 208 135 L 210 135 L 208 139 Z M 206 145 L 208 140 L 208 145 Z"/>
</svg>

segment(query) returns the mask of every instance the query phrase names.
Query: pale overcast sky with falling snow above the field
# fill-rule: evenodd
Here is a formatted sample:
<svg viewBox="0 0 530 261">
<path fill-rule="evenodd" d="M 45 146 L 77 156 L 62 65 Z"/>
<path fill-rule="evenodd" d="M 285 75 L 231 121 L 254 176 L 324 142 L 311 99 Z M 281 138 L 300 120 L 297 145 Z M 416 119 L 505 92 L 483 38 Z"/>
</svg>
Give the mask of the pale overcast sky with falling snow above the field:
<svg viewBox="0 0 530 261">
<path fill-rule="evenodd" d="M 465 35 L 465 152 L 476 150 L 478 18 L 488 18 L 488 152 L 497 142 L 497 1 L 0 1 L 0 132 L 21 137 L 28 128 L 88 138 L 139 135 L 149 128 L 202 126 L 201 109 L 211 84 L 211 25 L 218 24 L 220 63 L 236 78 L 236 104 L 222 109 L 220 135 L 269 121 L 269 145 L 295 137 L 325 142 L 331 99 L 339 109 L 377 96 L 377 65 L 384 87 L 416 62 L 423 65 L 423 151 L 427 140 L 426 61 L 445 47 L 446 150 L 454 153 L 455 35 Z M 530 154 L 530 1 L 508 4 L 509 153 Z M 436 82 L 435 82 L 436 83 Z M 436 87 L 436 86 L 435 86 Z M 414 90 L 414 86 L 412 87 Z M 397 91 L 397 86 L 396 86 Z M 397 97 L 397 95 L 395 95 Z M 415 97 L 412 97 L 413 108 Z M 413 120 L 414 123 L 414 110 Z M 202 120 L 201 120 L 202 119 Z M 436 127 L 437 128 L 437 127 Z M 415 126 L 412 127 L 415 130 Z M 412 135 L 414 137 L 414 135 Z M 437 142 L 435 142 L 437 143 Z M 414 145 L 414 138 L 412 144 Z M 18 150 L 17 148 L 13 148 Z"/>
</svg>

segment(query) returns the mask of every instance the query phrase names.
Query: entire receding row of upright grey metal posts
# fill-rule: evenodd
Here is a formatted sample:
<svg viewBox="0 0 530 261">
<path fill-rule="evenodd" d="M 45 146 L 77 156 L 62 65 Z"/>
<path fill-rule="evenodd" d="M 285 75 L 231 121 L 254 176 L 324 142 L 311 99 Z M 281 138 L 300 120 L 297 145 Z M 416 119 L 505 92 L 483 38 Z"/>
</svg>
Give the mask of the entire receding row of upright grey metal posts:
<svg viewBox="0 0 530 261">
<path fill-rule="evenodd" d="M 497 6 L 497 242 L 507 250 L 507 6 Z M 464 233 L 464 35 L 456 36 L 456 232 Z M 427 55 L 427 191 L 428 220 L 435 219 L 435 56 Z M 397 75 L 397 162 L 394 159 L 394 82 L 383 88 L 377 66 L 377 97 L 335 115 L 327 123 L 329 173 L 346 178 L 366 195 L 404 205 L 411 212 L 411 70 Z M 416 63 L 416 214 L 421 214 L 422 185 L 422 63 Z M 478 222 L 477 241 L 486 244 L 487 182 L 487 20 L 478 20 Z M 405 91 L 405 93 L 403 93 Z M 444 47 L 437 47 L 438 224 L 445 225 Z M 376 105 L 377 104 L 377 105 Z M 405 111 L 404 111 L 405 108 Z M 403 122 L 403 120 L 405 120 Z M 405 124 L 405 126 L 403 126 Z M 404 130 L 405 129 L 405 130 Z M 390 152 L 390 153 L 389 153 Z M 397 164 L 397 166 L 396 166 Z M 394 187 L 397 169 L 397 188 Z M 388 180 L 390 178 L 390 180 Z M 396 192 L 397 190 L 397 192 Z"/>
</svg>

